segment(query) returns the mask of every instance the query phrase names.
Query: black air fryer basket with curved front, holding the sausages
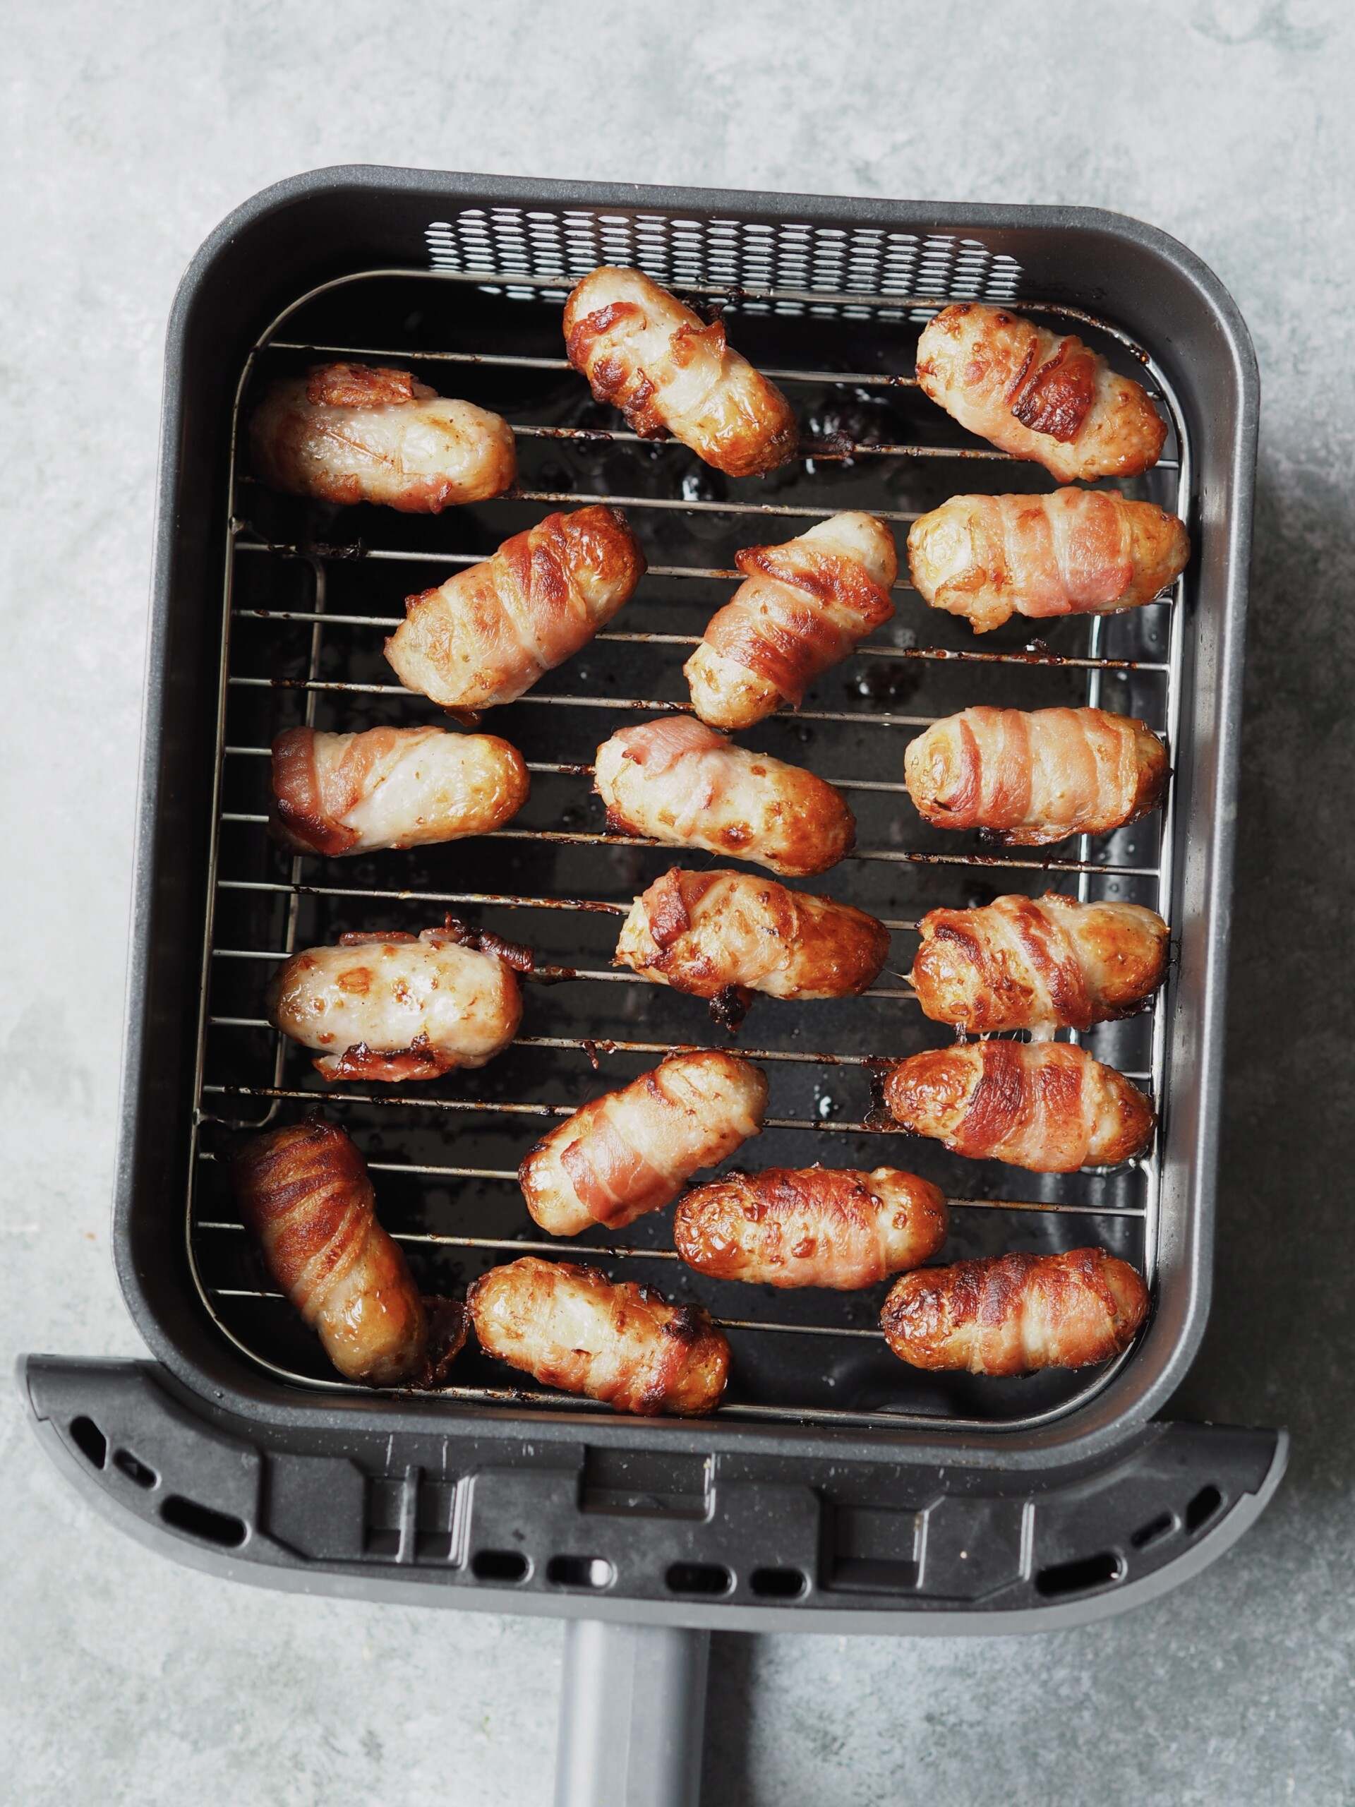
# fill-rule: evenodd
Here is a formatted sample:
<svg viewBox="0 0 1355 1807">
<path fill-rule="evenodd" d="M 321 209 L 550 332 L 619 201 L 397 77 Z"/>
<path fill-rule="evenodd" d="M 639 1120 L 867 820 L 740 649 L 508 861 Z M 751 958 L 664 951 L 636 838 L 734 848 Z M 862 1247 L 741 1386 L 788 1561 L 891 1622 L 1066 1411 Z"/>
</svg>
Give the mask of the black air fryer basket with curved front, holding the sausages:
<svg viewBox="0 0 1355 1807">
<path fill-rule="evenodd" d="M 721 305 L 815 455 L 730 481 L 676 441 L 616 432 L 560 332 L 567 289 L 598 262 Z M 569 768 L 685 699 L 681 663 L 732 591 L 737 548 L 842 508 L 883 515 L 902 548 L 909 519 L 958 490 L 1051 486 L 912 385 L 921 323 L 958 298 L 1077 331 L 1147 383 L 1173 430 L 1126 488 L 1178 511 L 1194 557 L 1171 600 L 1041 623 L 1042 641 L 1021 622 L 979 641 L 902 585 L 894 620 L 799 714 L 743 737 L 849 784 L 858 857 L 815 889 L 896 927 L 874 994 L 750 1014 L 737 1046 L 771 1077 L 757 1166 L 921 1171 L 958 1200 L 947 1259 L 1104 1245 L 1147 1274 L 1147 1328 L 1100 1370 L 925 1375 L 880 1339 L 876 1292 L 708 1281 L 672 1258 L 659 1214 L 575 1247 L 730 1326 L 734 1382 L 712 1418 L 618 1417 L 517 1386 L 475 1353 L 432 1397 L 341 1384 L 240 1231 L 220 1155 L 242 1128 L 323 1097 L 423 1288 L 455 1290 L 542 1247 L 511 1182 L 544 1128 L 674 1044 L 724 1043 L 697 999 L 609 976 L 616 907 L 674 853 L 609 835 Z M 253 482 L 240 421 L 260 381 L 340 356 L 408 365 L 502 412 L 520 490 L 410 517 Z M 83 1491 L 157 1549 L 240 1579 L 631 1626 L 1051 1628 L 1160 1594 L 1227 1549 L 1279 1482 L 1283 1433 L 1154 1413 L 1209 1308 L 1256 417 L 1247 331 L 1210 271 L 1088 210 L 341 168 L 231 215 L 179 291 L 164 390 L 116 1209 L 117 1270 L 154 1361 L 22 1364 L 38 1433 Z M 278 849 L 264 831 L 273 735 L 437 721 L 381 658 L 403 598 L 587 501 L 625 508 L 649 576 L 609 631 L 488 721 L 531 764 L 522 815 L 410 853 Z M 902 764 L 921 723 L 968 703 L 1088 701 L 1169 741 L 1163 811 L 1048 857 L 918 819 Z M 912 958 L 911 925 L 1050 887 L 1149 904 L 1173 925 L 1154 1010 L 1086 1035 L 1153 1091 L 1153 1153 L 1039 1176 L 883 1133 L 869 1059 L 945 1034 L 891 976 Z M 262 1021 L 278 958 L 448 909 L 582 976 L 533 987 L 520 1041 L 479 1073 L 323 1088 Z M 618 1646 L 587 1657 L 576 1635 L 578 1677 L 600 1681 Z M 690 1671 L 676 1686 L 678 1646 L 661 1648 L 654 1686 L 692 1744 L 681 1713 L 699 1690 Z M 576 1729 L 587 1711 L 576 1702 Z"/>
</svg>

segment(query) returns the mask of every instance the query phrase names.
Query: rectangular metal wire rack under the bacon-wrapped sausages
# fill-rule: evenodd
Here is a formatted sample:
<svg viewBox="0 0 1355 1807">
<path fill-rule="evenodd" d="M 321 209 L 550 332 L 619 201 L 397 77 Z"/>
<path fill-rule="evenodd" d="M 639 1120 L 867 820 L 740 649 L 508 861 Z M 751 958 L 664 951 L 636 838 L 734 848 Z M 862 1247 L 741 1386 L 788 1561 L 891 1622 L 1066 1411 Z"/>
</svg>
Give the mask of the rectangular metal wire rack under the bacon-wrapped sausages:
<svg viewBox="0 0 1355 1807">
<path fill-rule="evenodd" d="M 618 255 L 594 237 L 602 255 Z M 611 967 L 632 896 L 670 864 L 712 862 L 609 833 L 591 795 L 591 763 L 594 748 L 634 712 L 690 708 L 679 667 L 739 580 L 734 551 L 790 538 L 842 508 L 869 508 L 889 520 L 902 551 L 907 524 L 956 490 L 1051 486 L 1037 468 L 963 434 L 911 376 L 918 322 L 954 293 L 983 287 L 992 269 L 976 278 L 977 266 L 967 273 L 956 253 L 948 278 L 927 293 L 900 293 L 898 280 L 889 293 L 871 293 L 829 287 L 822 267 L 817 287 L 755 289 L 741 266 L 735 287 L 710 262 L 696 267 L 688 258 L 674 275 L 674 239 L 681 244 L 670 233 L 667 262 L 650 246 L 654 273 L 697 300 L 737 305 L 744 316 L 739 349 L 788 390 L 800 417 L 804 455 L 768 479 L 730 482 L 676 441 L 638 441 L 618 430 L 616 416 L 591 401 L 560 352 L 560 271 L 573 275 L 573 264 L 547 260 L 533 269 L 531 258 L 515 264 L 493 240 L 479 255 L 464 220 L 430 228 L 432 271 L 365 271 L 327 284 L 273 322 L 249 354 L 231 448 L 213 909 L 186 1218 L 192 1270 L 213 1321 L 255 1362 L 307 1388 L 343 1388 L 267 1279 L 224 1184 L 224 1156 L 244 1129 L 294 1120 L 323 1104 L 367 1156 L 381 1218 L 425 1292 L 459 1290 L 486 1267 L 526 1252 L 587 1259 L 706 1305 L 734 1344 L 724 1417 L 920 1422 L 932 1431 L 1030 1428 L 1084 1402 L 1117 1364 L 1030 1381 L 923 1375 L 900 1364 L 880 1337 L 885 1288 L 775 1292 L 710 1281 L 674 1254 L 670 1212 L 609 1236 L 600 1229 L 598 1240 L 544 1238 L 517 1189 L 517 1166 L 531 1142 L 585 1099 L 623 1084 L 672 1048 L 730 1046 L 697 999 Z M 542 244 L 538 253 L 549 253 Z M 486 262 L 491 253 L 499 262 Z M 589 253 L 585 267 L 591 262 Z M 878 275 L 883 264 L 874 267 Z M 495 275 L 499 282 L 486 280 Z M 1015 278 L 999 271 L 992 280 L 1006 298 Z M 1173 508 L 1189 526 L 1189 445 L 1153 358 L 1075 309 L 1024 300 L 1021 307 L 1055 323 L 1075 322 L 1147 381 L 1173 434 L 1156 470 L 1124 488 Z M 444 394 L 502 412 L 519 437 L 520 488 L 435 519 L 271 495 L 249 477 L 240 425 L 258 383 L 318 358 L 399 361 Z M 520 817 L 475 840 L 345 860 L 293 857 L 271 844 L 267 755 L 282 728 L 441 719 L 425 698 L 392 681 L 381 658 L 405 595 L 488 557 L 549 510 L 594 501 L 627 511 L 649 573 L 614 631 L 486 717 L 484 730 L 506 735 L 528 757 L 533 795 Z M 1104 705 L 1142 716 L 1173 744 L 1187 585 L 1189 571 L 1171 596 L 1126 616 L 1039 623 L 1044 640 L 1032 641 L 1033 623 L 1015 622 L 977 641 L 967 623 L 925 609 L 902 580 L 894 620 L 820 679 L 806 707 L 741 735 L 849 793 L 858 851 L 808 889 L 860 904 L 894 938 L 885 974 L 864 997 L 753 1006 L 732 1046 L 768 1070 L 771 1104 L 764 1133 L 741 1151 L 743 1164 L 909 1167 L 950 1196 L 943 1259 L 1095 1241 L 1135 1259 L 1153 1279 L 1156 1151 L 1120 1169 L 1064 1176 L 965 1162 L 882 1126 L 869 1063 L 948 1034 L 921 1017 L 903 978 L 927 909 L 1053 887 L 1171 914 L 1174 786 L 1147 822 L 1037 857 L 929 829 L 907 799 L 902 764 L 912 730 L 979 701 Z M 309 1055 L 267 1025 L 269 974 L 296 949 L 347 929 L 419 929 L 446 911 L 531 943 L 540 972 L 558 983 L 528 987 L 522 1034 L 482 1072 L 423 1086 L 325 1086 Z M 1082 1039 L 1153 1093 L 1160 1111 L 1171 1108 L 1163 997 L 1149 1014 Z M 1131 1359 L 1133 1350 L 1120 1362 Z M 477 1352 L 459 1357 L 452 1379 L 443 1391 L 459 1402 L 607 1409 L 517 1386 L 509 1370 Z"/>
</svg>

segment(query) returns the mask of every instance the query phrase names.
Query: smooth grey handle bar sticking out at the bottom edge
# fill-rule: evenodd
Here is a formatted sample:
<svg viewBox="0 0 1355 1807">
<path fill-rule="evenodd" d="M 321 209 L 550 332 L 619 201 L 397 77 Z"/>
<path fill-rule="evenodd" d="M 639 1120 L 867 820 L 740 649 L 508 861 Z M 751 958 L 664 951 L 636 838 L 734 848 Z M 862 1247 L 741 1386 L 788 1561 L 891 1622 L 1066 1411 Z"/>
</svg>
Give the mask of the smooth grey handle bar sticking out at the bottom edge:
<svg viewBox="0 0 1355 1807">
<path fill-rule="evenodd" d="M 699 1807 L 710 1632 L 565 1623 L 555 1807 Z"/>
</svg>

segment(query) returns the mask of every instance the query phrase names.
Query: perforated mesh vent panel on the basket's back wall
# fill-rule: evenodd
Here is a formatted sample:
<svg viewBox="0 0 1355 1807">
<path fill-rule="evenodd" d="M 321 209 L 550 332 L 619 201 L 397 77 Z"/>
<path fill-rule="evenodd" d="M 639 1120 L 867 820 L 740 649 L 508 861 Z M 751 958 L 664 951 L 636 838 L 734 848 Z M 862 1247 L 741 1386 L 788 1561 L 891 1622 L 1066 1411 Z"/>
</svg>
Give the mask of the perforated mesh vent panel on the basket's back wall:
<svg viewBox="0 0 1355 1807">
<path fill-rule="evenodd" d="M 954 233 L 920 237 L 589 208 L 463 208 L 452 220 L 434 220 L 426 239 L 434 269 L 509 278 L 504 289 L 520 300 L 540 295 L 542 278 L 562 276 L 571 287 L 598 264 L 638 266 L 674 287 L 737 289 L 724 305 L 744 313 L 925 318 L 934 309 L 903 304 L 1012 302 L 1021 293 L 1015 258 Z M 535 280 L 513 284 L 513 276 Z M 759 293 L 770 289 L 795 293 Z M 565 289 L 546 293 L 564 298 Z M 851 295 L 862 302 L 842 300 Z M 892 296 L 898 309 L 880 305 Z"/>
</svg>

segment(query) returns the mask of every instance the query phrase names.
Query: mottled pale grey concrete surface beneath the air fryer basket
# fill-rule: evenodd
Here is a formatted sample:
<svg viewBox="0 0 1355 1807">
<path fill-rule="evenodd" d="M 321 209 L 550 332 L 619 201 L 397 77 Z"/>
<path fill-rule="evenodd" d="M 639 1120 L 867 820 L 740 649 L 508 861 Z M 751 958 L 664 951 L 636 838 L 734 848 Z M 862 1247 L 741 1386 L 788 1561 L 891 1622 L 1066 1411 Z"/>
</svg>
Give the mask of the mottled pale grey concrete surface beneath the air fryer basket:
<svg viewBox="0 0 1355 1807">
<path fill-rule="evenodd" d="M 1355 20 L 1301 0 L 11 0 L 0 13 L 0 1352 L 134 1352 L 108 1259 L 161 338 L 226 210 L 340 161 L 1059 201 L 1232 289 L 1265 417 L 1216 1305 L 1180 1415 L 1290 1478 L 1127 1619 L 717 1639 L 708 1807 L 1355 1802 Z M 302 1601 L 96 1521 L 0 1390 L 0 1798 L 549 1800 L 560 1634 Z"/>
</svg>

